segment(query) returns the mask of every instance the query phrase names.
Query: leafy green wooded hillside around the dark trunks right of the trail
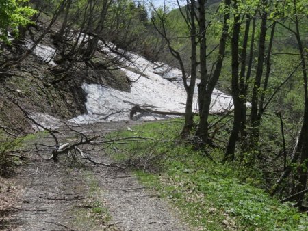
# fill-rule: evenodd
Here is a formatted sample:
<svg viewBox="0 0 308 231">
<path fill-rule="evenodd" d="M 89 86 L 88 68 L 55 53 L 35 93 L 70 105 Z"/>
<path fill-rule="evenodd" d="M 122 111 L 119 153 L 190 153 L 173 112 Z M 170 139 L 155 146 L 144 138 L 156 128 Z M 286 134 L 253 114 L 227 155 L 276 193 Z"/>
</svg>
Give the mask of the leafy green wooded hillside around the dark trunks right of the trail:
<svg viewBox="0 0 308 231">
<path fill-rule="evenodd" d="M 307 182 L 307 3 L 223 1 L 208 7 L 207 3 L 190 1 L 171 12 L 157 10 L 153 20 L 183 77 L 190 74 L 190 83 L 201 79 L 200 120 L 194 135 L 203 141 L 201 147 L 216 143 L 209 130 L 209 96 L 215 86 L 229 92 L 234 118 L 232 127 L 227 128 L 230 133 L 224 141 L 222 161 L 264 167 L 280 159 L 271 171 L 282 173 L 271 183 L 270 193 L 274 195 L 281 187 L 291 190 L 289 193 L 296 194 L 292 200 L 301 206 Z M 186 107 L 191 111 L 194 84 L 186 89 Z M 187 113 L 184 137 L 193 124 Z M 276 168 L 279 165 L 280 170 Z M 285 185 L 290 176 L 298 183 Z"/>
</svg>

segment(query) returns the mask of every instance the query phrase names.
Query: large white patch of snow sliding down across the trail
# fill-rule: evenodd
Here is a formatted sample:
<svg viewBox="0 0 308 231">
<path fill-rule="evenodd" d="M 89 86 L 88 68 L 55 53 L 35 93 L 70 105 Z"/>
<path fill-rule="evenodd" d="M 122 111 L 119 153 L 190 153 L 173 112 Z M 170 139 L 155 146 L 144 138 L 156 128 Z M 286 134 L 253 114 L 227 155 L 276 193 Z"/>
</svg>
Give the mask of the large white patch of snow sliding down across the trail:
<svg viewBox="0 0 308 231">
<path fill-rule="evenodd" d="M 111 56 L 116 54 L 106 47 Z M 181 79 L 181 70 L 171 68 L 162 63 L 152 63 L 140 55 L 129 53 L 131 62 L 127 62 L 130 69 L 142 72 L 137 74 L 126 68 L 121 68 L 127 77 L 132 81 L 131 92 L 121 92 L 110 87 L 97 84 L 84 83 L 82 88 L 87 94 L 86 109 L 88 114 L 77 116 L 70 120 L 79 124 L 129 120 L 129 111 L 134 105 L 152 107 L 157 111 L 185 112 L 186 92 Z M 170 81 L 172 80 L 172 81 Z M 173 81 L 175 80 L 175 81 Z M 198 84 L 200 81 L 196 81 Z M 196 87 L 197 88 L 197 87 Z M 214 90 L 211 98 L 211 112 L 223 112 L 233 107 L 231 96 Z M 198 110 L 198 94 L 194 93 L 194 111 Z M 108 116 L 112 114 L 111 116 Z M 106 116 L 108 116 L 106 118 Z M 156 120 L 166 116 L 146 115 L 137 116 L 143 120 Z M 171 117 L 171 116 L 167 116 Z"/>
</svg>

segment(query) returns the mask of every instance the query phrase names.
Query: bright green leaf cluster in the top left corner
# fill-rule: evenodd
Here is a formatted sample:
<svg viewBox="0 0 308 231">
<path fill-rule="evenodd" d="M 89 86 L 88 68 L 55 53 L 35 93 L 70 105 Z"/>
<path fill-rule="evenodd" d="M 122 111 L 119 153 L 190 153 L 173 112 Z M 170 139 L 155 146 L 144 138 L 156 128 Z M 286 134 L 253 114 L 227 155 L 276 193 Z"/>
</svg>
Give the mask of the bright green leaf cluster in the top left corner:
<svg viewBox="0 0 308 231">
<path fill-rule="evenodd" d="M 27 6 L 28 0 L 1 0 L 0 1 L 0 42 L 8 42 L 8 30 L 17 34 L 19 26 L 26 26 L 35 10 Z"/>
</svg>

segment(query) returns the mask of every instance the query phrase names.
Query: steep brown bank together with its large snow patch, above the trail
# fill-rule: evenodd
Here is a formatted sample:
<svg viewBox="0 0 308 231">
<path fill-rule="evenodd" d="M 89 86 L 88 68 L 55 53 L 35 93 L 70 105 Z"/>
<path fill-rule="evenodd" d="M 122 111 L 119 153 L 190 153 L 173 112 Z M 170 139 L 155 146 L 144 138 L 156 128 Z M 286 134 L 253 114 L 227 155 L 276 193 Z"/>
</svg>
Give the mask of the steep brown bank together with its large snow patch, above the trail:
<svg viewBox="0 0 308 231">
<path fill-rule="evenodd" d="M 31 42 L 21 48 L 26 50 L 29 44 Z M 186 93 L 180 70 L 118 50 L 113 44 L 109 47 L 100 44 L 95 65 L 76 62 L 62 77 L 64 80 L 57 81 L 62 59 L 57 47 L 61 44 L 55 45 L 52 36 L 45 38 L 31 55 L 5 70 L 1 77 L 0 123 L 31 131 L 33 126 L 14 105 L 17 101 L 38 122 L 51 127 L 57 126 L 59 119 L 77 123 L 129 120 L 129 111 L 134 105 L 158 111 L 185 111 Z M 120 64 L 108 69 L 103 66 L 105 59 L 118 59 Z M 195 111 L 197 100 L 196 92 Z M 219 90 L 215 90 L 212 100 L 213 112 L 232 107 L 231 97 Z M 150 113 L 138 114 L 137 118 L 156 120 L 166 116 Z"/>
</svg>

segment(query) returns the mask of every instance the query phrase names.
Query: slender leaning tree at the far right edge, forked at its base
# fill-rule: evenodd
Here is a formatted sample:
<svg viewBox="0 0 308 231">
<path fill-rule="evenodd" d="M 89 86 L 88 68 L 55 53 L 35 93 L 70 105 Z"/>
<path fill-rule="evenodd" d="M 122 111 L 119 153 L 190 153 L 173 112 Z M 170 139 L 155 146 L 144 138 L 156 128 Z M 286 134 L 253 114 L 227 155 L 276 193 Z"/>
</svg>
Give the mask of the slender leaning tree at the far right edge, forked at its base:
<svg viewBox="0 0 308 231">
<path fill-rule="evenodd" d="M 305 55 L 305 49 L 303 45 L 302 33 L 300 31 L 300 21 L 307 19 L 307 11 L 305 10 L 305 1 L 290 0 L 285 1 L 279 5 L 283 12 L 281 16 L 288 19 L 287 23 L 280 23 L 288 31 L 292 32 L 296 38 L 298 45 L 298 52 L 300 54 L 300 65 L 303 74 L 303 98 L 304 98 L 304 113 L 303 113 L 303 124 L 298 133 L 296 144 L 292 152 L 291 164 L 285 167 L 280 178 L 273 185 L 271 194 L 274 195 L 279 189 L 279 186 L 292 172 L 292 165 L 298 163 L 298 167 L 294 174 L 297 185 L 295 190 L 292 190 L 296 196 L 292 199 L 296 200 L 296 206 L 301 207 L 305 196 L 307 187 L 307 169 L 308 169 L 308 79 L 307 79 L 307 57 Z M 292 23 L 292 24 L 291 24 Z"/>
</svg>

